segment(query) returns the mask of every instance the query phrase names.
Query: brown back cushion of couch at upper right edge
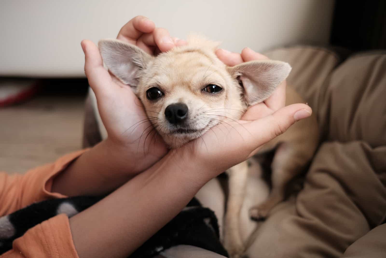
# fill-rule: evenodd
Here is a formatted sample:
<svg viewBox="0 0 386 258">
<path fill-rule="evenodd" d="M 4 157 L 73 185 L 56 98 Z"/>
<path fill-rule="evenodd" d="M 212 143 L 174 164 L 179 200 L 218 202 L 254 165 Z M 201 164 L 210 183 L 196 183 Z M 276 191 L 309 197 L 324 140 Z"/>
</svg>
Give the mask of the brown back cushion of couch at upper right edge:
<svg viewBox="0 0 386 258">
<path fill-rule="evenodd" d="M 352 56 L 320 95 L 318 121 L 328 140 L 386 145 L 386 52 Z"/>
</svg>

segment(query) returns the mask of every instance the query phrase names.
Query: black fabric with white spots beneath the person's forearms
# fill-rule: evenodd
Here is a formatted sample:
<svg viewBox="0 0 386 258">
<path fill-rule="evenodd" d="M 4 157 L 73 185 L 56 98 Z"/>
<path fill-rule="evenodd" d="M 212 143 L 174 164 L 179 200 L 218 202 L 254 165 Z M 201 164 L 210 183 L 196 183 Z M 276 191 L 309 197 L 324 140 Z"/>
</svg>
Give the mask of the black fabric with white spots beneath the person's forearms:
<svg viewBox="0 0 386 258">
<path fill-rule="evenodd" d="M 58 214 L 74 216 L 103 197 L 51 199 L 0 217 L 0 255 L 12 249 L 12 242 L 28 229 Z M 173 220 L 130 255 L 130 258 L 150 258 L 179 244 L 198 246 L 228 257 L 219 240 L 215 214 L 212 210 L 202 207 L 194 198 Z"/>
</svg>

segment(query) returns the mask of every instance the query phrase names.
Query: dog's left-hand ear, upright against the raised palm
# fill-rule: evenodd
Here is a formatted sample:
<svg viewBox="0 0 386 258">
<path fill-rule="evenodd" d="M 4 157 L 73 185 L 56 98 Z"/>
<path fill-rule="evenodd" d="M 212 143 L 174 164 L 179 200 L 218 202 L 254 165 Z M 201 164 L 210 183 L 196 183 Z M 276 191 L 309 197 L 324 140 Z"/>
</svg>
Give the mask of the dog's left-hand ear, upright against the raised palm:
<svg viewBox="0 0 386 258">
<path fill-rule="evenodd" d="M 98 47 L 103 62 L 112 74 L 134 89 L 138 85 L 141 71 L 153 58 L 142 49 L 117 39 L 100 40 Z"/>
</svg>

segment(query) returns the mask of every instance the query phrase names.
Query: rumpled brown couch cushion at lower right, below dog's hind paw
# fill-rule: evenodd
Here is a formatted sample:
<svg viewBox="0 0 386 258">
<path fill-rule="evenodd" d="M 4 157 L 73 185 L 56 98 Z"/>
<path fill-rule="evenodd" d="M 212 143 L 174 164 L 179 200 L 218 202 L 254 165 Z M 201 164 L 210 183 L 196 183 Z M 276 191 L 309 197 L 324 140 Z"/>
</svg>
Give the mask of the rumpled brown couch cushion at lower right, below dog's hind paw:
<svg viewBox="0 0 386 258">
<path fill-rule="evenodd" d="M 326 142 L 317 151 L 304 189 L 278 204 L 257 229 L 249 257 L 340 257 L 378 226 L 386 211 L 386 146 Z M 369 158 L 373 157 L 373 158 Z M 373 159 L 383 159 L 374 166 Z"/>
</svg>

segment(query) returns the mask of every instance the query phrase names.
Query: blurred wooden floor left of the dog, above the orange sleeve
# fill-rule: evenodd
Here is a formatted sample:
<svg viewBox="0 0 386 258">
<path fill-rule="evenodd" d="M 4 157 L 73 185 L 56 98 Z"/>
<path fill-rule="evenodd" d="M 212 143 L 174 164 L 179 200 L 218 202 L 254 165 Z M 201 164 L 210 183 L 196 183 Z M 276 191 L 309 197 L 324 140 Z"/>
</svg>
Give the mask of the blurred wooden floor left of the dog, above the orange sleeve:
<svg viewBox="0 0 386 258">
<path fill-rule="evenodd" d="M 45 84 L 32 100 L 0 108 L 0 171 L 23 173 L 81 148 L 85 81 Z"/>
</svg>

